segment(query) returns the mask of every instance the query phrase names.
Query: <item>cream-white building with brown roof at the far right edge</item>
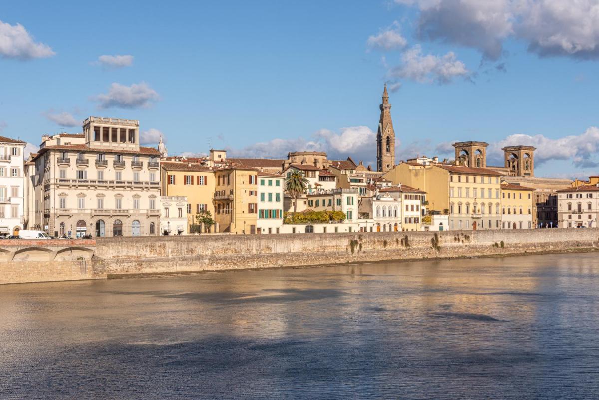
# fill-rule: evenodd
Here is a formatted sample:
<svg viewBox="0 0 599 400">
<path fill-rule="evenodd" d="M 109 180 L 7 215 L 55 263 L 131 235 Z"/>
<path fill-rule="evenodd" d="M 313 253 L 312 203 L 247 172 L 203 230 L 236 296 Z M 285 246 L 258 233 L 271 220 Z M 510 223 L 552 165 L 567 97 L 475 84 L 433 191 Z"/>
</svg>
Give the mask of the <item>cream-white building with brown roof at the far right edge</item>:
<svg viewBox="0 0 599 400">
<path fill-rule="evenodd" d="M 556 190 L 559 228 L 597 228 L 599 183 Z"/>
</svg>

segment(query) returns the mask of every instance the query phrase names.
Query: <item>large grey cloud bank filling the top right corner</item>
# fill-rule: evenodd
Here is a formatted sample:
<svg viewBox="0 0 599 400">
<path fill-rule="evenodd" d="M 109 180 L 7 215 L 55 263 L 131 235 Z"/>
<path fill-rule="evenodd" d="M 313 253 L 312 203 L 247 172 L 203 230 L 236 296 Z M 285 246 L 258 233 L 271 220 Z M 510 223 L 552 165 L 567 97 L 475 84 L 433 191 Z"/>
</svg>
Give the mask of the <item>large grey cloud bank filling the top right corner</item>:
<svg viewBox="0 0 599 400">
<path fill-rule="evenodd" d="M 599 57 L 597 0 L 395 0 L 416 5 L 421 39 L 503 53 L 508 38 L 524 40 L 540 56 Z"/>
</svg>

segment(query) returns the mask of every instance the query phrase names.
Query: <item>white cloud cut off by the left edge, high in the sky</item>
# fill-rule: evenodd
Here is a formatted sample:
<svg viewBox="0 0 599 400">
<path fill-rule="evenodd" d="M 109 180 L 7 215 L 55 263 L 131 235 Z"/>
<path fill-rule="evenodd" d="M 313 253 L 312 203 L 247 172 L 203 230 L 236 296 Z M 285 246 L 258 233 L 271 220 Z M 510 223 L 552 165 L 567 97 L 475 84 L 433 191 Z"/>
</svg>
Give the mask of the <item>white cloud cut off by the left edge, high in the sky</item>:
<svg viewBox="0 0 599 400">
<path fill-rule="evenodd" d="M 30 60 L 52 57 L 55 52 L 43 43 L 35 43 L 29 32 L 17 23 L 10 25 L 0 21 L 0 56 L 11 59 Z"/>
</svg>

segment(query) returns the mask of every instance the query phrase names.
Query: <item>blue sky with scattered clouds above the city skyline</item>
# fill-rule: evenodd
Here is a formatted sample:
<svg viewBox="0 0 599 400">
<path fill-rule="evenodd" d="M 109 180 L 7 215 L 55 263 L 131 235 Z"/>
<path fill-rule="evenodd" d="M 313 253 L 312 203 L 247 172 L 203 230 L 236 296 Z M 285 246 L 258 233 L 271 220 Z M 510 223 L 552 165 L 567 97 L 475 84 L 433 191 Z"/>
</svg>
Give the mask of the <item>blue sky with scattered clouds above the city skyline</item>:
<svg viewBox="0 0 599 400">
<path fill-rule="evenodd" d="M 397 162 L 453 141 L 537 147 L 535 174 L 599 173 L 599 0 L 0 1 L 0 135 L 140 120 L 169 155 L 327 151 Z"/>
</svg>

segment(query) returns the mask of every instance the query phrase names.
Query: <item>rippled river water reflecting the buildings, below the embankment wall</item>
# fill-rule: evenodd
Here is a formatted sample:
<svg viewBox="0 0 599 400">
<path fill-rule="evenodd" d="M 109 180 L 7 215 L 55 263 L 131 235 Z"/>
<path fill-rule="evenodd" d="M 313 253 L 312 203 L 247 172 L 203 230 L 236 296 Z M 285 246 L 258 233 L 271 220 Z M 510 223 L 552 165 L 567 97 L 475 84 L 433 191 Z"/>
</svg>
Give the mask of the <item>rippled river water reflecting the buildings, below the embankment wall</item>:
<svg viewBox="0 0 599 400">
<path fill-rule="evenodd" d="M 0 398 L 598 399 L 597 259 L 0 286 Z"/>
</svg>

